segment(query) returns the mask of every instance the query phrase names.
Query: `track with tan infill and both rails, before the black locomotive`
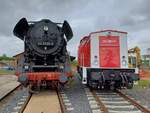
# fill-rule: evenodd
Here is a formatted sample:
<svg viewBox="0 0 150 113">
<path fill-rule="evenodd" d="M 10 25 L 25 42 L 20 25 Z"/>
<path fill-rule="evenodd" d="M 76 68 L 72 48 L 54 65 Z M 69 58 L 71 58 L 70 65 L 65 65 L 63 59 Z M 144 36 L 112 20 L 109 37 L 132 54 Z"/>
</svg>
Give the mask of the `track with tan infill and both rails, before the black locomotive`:
<svg viewBox="0 0 150 113">
<path fill-rule="evenodd" d="M 41 91 L 30 94 L 19 113 L 68 113 L 59 91 Z"/>
</svg>

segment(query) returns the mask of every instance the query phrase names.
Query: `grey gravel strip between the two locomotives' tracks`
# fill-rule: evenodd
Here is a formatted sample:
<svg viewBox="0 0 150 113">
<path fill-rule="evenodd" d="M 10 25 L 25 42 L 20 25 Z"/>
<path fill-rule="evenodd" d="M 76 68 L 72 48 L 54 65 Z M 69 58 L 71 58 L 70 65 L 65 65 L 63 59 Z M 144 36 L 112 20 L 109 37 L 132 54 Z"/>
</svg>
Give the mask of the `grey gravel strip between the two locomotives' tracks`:
<svg viewBox="0 0 150 113">
<path fill-rule="evenodd" d="M 63 89 L 73 108 L 69 113 L 92 113 L 85 94 L 84 86 L 81 84 L 78 76 L 74 76 L 73 79 L 74 81 L 70 86 Z"/>
</svg>

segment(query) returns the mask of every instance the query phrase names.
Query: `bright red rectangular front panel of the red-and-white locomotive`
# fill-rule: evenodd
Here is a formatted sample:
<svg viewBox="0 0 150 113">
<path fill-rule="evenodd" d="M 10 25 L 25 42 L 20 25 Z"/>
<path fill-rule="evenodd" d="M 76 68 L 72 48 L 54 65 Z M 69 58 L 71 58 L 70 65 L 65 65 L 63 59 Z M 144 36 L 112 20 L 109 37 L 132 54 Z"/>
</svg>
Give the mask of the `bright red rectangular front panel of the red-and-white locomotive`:
<svg viewBox="0 0 150 113">
<path fill-rule="evenodd" d="M 99 58 L 100 67 L 119 68 L 120 67 L 120 46 L 119 36 L 99 37 Z"/>
</svg>

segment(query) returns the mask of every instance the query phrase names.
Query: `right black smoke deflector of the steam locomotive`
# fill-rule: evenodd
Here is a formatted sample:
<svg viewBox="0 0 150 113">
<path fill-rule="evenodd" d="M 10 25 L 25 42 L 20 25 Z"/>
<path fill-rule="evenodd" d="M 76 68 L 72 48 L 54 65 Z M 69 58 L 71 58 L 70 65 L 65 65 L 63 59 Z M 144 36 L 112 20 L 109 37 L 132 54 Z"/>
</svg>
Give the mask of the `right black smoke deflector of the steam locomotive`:
<svg viewBox="0 0 150 113">
<path fill-rule="evenodd" d="M 62 26 L 63 32 L 67 38 L 67 41 L 69 41 L 73 37 L 72 29 L 67 21 L 64 21 Z"/>
</svg>

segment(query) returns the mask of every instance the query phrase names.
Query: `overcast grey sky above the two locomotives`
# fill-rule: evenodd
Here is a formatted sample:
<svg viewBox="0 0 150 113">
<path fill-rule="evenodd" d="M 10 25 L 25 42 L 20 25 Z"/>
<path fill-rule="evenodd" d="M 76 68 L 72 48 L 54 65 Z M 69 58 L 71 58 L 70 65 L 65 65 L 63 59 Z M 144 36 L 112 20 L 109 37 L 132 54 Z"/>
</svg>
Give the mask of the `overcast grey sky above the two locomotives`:
<svg viewBox="0 0 150 113">
<path fill-rule="evenodd" d="M 23 51 L 23 42 L 13 36 L 22 17 L 67 20 L 74 33 L 68 44 L 77 55 L 80 39 L 92 31 L 115 29 L 128 32 L 129 48 L 150 48 L 150 0 L 0 0 L 0 55 L 13 56 Z"/>
</svg>

